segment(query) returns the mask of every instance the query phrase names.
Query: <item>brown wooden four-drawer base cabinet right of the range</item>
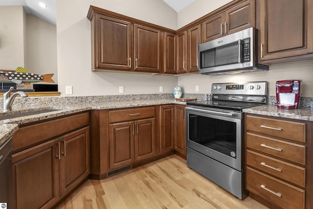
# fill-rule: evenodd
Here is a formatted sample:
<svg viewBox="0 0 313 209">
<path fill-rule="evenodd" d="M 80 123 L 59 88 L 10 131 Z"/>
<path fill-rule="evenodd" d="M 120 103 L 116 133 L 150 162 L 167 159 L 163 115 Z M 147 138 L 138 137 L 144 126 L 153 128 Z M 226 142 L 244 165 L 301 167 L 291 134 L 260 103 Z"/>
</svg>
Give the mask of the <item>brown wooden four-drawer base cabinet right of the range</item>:
<svg viewBox="0 0 313 209">
<path fill-rule="evenodd" d="M 249 196 L 269 208 L 312 208 L 311 136 L 310 121 L 247 114 Z"/>
</svg>

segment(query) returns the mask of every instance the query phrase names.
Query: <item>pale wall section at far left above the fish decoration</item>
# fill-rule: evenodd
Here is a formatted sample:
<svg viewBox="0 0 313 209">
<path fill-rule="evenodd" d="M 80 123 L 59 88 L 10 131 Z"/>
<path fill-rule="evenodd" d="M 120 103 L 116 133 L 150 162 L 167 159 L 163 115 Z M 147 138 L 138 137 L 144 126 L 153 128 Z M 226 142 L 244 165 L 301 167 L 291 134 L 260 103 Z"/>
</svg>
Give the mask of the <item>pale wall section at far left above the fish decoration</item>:
<svg viewBox="0 0 313 209">
<path fill-rule="evenodd" d="M 22 6 L 0 6 L 0 70 L 24 67 L 24 20 Z"/>
</svg>

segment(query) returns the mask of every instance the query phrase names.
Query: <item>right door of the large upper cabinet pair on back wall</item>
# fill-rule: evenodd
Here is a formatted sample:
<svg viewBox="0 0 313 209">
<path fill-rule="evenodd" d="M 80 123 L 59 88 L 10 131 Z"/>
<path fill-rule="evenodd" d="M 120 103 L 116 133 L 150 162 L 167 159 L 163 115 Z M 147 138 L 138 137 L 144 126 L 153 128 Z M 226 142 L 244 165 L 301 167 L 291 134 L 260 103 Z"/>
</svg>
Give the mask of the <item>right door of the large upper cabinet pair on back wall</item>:
<svg viewBox="0 0 313 209">
<path fill-rule="evenodd" d="M 161 72 L 159 30 L 134 24 L 134 70 Z"/>
</svg>

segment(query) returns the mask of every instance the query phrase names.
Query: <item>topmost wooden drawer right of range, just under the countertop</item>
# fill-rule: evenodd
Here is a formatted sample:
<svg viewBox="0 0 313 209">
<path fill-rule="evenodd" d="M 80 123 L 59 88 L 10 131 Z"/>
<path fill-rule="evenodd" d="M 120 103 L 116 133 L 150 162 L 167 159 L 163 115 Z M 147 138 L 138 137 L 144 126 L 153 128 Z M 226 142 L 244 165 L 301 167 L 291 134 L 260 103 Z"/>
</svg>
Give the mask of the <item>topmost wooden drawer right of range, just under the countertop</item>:
<svg viewBox="0 0 313 209">
<path fill-rule="evenodd" d="M 246 116 L 246 129 L 275 137 L 305 142 L 305 123 Z"/>
</svg>

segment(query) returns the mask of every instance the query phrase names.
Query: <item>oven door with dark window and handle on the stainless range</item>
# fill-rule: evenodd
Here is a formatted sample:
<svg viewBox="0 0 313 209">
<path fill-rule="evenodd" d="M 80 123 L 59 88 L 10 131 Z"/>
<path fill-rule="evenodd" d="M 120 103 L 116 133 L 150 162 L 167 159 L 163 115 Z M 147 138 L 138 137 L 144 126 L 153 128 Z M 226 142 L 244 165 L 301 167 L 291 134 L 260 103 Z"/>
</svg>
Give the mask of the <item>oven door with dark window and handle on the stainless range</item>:
<svg viewBox="0 0 313 209">
<path fill-rule="evenodd" d="M 241 112 L 187 106 L 186 116 L 187 147 L 242 171 Z"/>
</svg>

